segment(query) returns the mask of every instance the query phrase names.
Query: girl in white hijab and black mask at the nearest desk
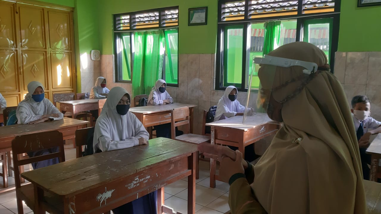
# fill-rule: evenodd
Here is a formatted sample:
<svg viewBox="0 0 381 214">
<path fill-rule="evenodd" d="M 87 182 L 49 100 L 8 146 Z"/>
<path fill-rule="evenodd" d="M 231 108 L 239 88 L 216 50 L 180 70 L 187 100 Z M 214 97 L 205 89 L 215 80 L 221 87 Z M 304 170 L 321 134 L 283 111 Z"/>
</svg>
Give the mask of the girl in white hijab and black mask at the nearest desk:
<svg viewBox="0 0 381 214">
<path fill-rule="evenodd" d="M 138 118 L 128 111 L 130 101 L 131 96 L 126 89 L 114 87 L 110 90 L 102 113 L 95 125 L 94 152 L 147 144 L 149 134 Z M 154 214 L 157 213 L 156 202 L 157 192 L 153 192 L 113 209 L 112 212 L 114 214 Z"/>
</svg>

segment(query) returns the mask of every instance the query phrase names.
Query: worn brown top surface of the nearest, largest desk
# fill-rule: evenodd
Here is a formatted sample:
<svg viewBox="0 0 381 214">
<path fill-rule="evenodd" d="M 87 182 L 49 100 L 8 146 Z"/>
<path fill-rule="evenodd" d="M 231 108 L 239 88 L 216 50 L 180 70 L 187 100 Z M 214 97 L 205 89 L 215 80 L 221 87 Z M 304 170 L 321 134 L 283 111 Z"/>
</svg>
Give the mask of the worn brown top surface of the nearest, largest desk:
<svg viewBox="0 0 381 214">
<path fill-rule="evenodd" d="M 154 138 L 149 145 L 96 153 L 22 173 L 22 177 L 57 195 L 70 196 L 190 156 L 197 145 Z"/>
</svg>

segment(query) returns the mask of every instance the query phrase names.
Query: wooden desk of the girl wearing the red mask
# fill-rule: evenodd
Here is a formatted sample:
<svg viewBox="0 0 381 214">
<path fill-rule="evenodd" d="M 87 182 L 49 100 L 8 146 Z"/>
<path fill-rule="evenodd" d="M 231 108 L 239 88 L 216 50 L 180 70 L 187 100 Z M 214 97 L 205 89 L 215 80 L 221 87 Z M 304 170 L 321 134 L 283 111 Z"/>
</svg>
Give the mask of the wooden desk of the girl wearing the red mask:
<svg viewBox="0 0 381 214">
<path fill-rule="evenodd" d="M 81 100 L 58 102 L 59 110 L 62 113 L 69 112 L 73 115 L 73 118 L 77 118 L 77 115 L 80 112 L 85 112 L 90 110 L 99 110 L 99 104 L 98 104 L 99 100 L 101 99 L 81 99 Z"/>
</svg>

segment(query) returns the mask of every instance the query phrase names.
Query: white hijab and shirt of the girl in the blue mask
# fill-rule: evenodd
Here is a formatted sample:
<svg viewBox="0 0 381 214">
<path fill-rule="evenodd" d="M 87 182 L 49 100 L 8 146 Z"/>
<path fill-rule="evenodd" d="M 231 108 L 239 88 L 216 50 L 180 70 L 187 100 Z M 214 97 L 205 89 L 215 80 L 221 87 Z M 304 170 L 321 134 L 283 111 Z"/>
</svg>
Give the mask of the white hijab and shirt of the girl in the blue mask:
<svg viewBox="0 0 381 214">
<path fill-rule="evenodd" d="M 64 114 L 61 113 L 50 100 L 44 98 L 41 102 L 36 102 L 32 98 L 34 90 L 42 86 L 41 83 L 37 81 L 32 81 L 28 84 L 28 93 L 25 99 L 19 103 L 16 110 L 16 117 L 18 119 L 18 124 L 26 124 L 35 120 L 40 120 L 43 115 L 49 115 L 56 113 L 59 117 L 49 117 L 53 120 L 61 120 L 64 118 Z"/>
</svg>

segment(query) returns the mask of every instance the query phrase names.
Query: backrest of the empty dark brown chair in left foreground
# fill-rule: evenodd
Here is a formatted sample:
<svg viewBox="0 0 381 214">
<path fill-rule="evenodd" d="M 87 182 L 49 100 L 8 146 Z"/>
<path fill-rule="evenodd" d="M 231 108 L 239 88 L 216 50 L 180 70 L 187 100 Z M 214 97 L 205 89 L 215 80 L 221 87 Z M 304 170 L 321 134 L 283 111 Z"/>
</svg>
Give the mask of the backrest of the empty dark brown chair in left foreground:
<svg viewBox="0 0 381 214">
<path fill-rule="evenodd" d="M 22 155 L 19 156 L 19 154 L 36 152 L 42 149 L 51 149 L 55 147 L 59 148 L 59 152 L 36 157 L 23 157 Z M 64 140 L 62 133 L 55 130 L 16 136 L 12 140 L 12 155 L 14 165 L 14 180 L 16 182 L 16 188 L 19 188 L 21 186 L 19 166 L 35 163 L 38 161 L 49 160 L 52 158 L 58 158 L 60 163 L 65 161 Z"/>
</svg>

